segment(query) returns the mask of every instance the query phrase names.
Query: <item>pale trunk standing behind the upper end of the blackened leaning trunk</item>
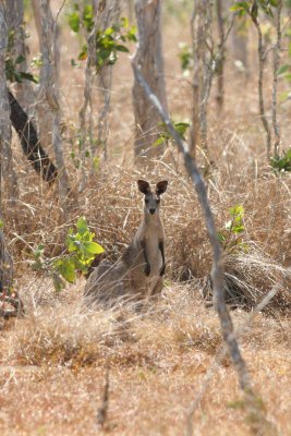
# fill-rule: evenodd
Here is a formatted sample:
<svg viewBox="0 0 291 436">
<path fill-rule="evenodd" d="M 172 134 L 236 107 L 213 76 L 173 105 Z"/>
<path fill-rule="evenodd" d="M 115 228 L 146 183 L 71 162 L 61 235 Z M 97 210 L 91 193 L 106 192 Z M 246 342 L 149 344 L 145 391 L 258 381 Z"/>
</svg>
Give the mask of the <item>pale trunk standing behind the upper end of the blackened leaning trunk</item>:
<svg viewBox="0 0 291 436">
<path fill-rule="evenodd" d="M 24 28 L 24 3 L 23 0 L 10 0 L 9 8 L 7 9 L 7 20 L 9 32 L 13 32 L 13 58 L 22 57 L 23 61 L 16 65 L 21 72 L 27 71 L 26 60 L 26 44 L 25 44 L 25 28 Z M 25 112 L 33 114 L 34 106 L 34 89 L 28 81 L 16 83 L 16 98 Z"/>
</svg>

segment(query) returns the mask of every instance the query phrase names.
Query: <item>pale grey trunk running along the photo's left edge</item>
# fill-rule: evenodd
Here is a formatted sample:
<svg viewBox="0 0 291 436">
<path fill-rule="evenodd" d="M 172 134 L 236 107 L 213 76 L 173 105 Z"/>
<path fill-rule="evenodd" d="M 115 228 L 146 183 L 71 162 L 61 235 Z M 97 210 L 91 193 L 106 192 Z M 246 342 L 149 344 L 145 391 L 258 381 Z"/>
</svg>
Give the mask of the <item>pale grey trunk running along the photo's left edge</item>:
<svg viewBox="0 0 291 436">
<path fill-rule="evenodd" d="M 8 27 L 4 8 L 0 4 L 0 137 L 1 137 L 1 166 L 4 180 L 4 190 L 9 203 L 13 206 L 19 198 L 17 178 L 13 168 L 11 150 L 11 123 L 10 106 L 5 81 L 5 53 L 8 45 Z"/>
</svg>

